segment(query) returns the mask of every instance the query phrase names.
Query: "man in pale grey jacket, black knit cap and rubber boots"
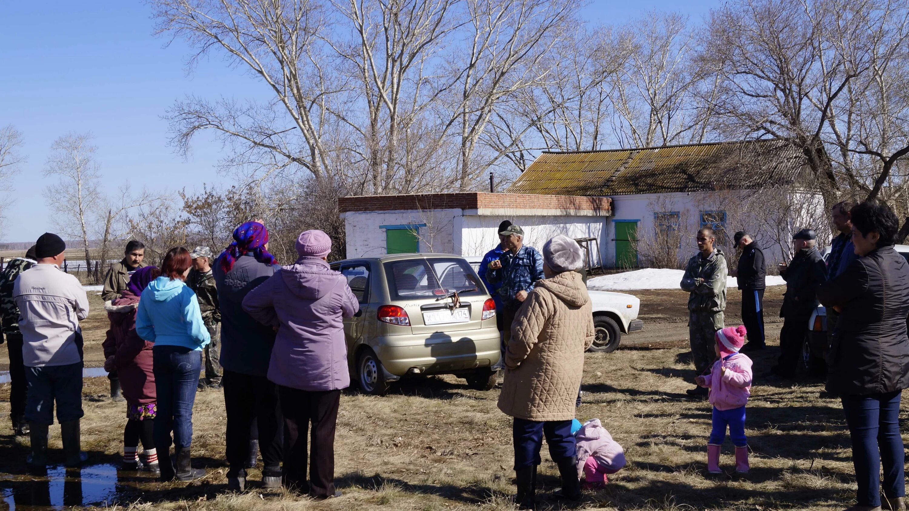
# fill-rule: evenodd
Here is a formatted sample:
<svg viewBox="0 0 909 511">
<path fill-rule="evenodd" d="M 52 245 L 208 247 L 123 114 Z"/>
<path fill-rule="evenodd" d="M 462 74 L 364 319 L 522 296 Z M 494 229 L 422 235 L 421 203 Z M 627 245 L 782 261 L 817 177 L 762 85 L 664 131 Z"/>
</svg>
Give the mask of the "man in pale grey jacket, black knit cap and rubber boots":
<svg viewBox="0 0 909 511">
<path fill-rule="evenodd" d="M 82 418 L 82 331 L 79 321 L 88 316 L 88 296 L 75 276 L 60 271 L 66 244 L 45 233 L 35 244 L 35 266 L 13 285 L 19 307 L 25 381 L 25 420 L 31 429 L 31 464 L 47 465 L 47 427 L 60 423 L 66 466 L 85 461 L 80 449 Z"/>
</svg>

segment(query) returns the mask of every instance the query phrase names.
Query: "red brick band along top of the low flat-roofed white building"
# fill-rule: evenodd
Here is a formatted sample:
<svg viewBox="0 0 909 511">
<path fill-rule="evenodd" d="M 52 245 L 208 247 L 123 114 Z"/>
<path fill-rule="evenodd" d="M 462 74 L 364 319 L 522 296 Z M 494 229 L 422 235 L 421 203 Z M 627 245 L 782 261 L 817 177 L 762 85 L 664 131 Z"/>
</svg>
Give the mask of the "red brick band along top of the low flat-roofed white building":
<svg viewBox="0 0 909 511">
<path fill-rule="evenodd" d="M 431 209 L 563 209 L 610 211 L 607 197 L 466 192 L 457 194 L 359 195 L 338 199 L 341 213 Z"/>
</svg>

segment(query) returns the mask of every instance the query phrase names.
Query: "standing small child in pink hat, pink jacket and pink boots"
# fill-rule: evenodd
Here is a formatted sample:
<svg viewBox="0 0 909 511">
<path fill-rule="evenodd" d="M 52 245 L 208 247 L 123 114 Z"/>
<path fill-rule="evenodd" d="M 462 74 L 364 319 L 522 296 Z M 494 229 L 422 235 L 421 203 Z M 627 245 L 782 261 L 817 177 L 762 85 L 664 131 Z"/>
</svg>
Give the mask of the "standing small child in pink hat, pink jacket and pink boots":
<svg viewBox="0 0 909 511">
<path fill-rule="evenodd" d="M 709 375 L 694 379 L 697 385 L 710 389 L 714 406 L 714 430 L 707 440 L 707 471 L 721 474 L 720 446 L 726 437 L 726 426 L 735 446 L 735 472 L 748 472 L 748 439 L 744 436 L 744 406 L 751 396 L 752 361 L 739 353 L 744 346 L 745 328 L 728 327 L 716 332 L 716 356 Z"/>
</svg>

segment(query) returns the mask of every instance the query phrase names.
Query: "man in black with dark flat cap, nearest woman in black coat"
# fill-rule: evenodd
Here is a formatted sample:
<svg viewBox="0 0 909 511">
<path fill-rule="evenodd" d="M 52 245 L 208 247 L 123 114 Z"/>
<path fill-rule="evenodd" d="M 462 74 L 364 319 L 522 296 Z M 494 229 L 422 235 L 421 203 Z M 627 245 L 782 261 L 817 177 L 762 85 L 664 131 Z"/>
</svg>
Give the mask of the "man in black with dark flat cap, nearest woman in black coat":
<svg viewBox="0 0 909 511">
<path fill-rule="evenodd" d="M 811 229 L 802 229 L 793 236 L 795 255 L 787 266 L 780 264 L 780 275 L 786 281 L 786 294 L 780 317 L 780 359 L 770 370 L 770 376 L 792 379 L 798 367 L 804 337 L 808 334 L 808 320 L 817 307 L 817 286 L 827 280 L 824 258 L 814 246 L 817 235 Z"/>
</svg>

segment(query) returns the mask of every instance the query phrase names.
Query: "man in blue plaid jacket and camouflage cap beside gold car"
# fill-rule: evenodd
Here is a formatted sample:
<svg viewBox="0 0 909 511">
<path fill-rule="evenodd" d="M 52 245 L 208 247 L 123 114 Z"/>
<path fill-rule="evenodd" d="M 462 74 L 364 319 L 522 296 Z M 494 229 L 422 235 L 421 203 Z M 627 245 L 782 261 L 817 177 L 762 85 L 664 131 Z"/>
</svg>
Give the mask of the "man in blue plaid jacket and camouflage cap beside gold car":
<svg viewBox="0 0 909 511">
<path fill-rule="evenodd" d="M 534 282 L 544 278 L 543 255 L 533 246 L 524 245 L 524 229 L 518 225 L 511 225 L 499 235 L 504 236 L 508 250 L 489 263 L 486 279 L 501 285 L 498 293 L 503 306 L 503 345 L 507 345 L 514 313 L 534 290 Z"/>
</svg>

